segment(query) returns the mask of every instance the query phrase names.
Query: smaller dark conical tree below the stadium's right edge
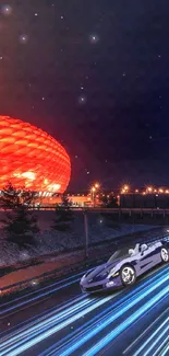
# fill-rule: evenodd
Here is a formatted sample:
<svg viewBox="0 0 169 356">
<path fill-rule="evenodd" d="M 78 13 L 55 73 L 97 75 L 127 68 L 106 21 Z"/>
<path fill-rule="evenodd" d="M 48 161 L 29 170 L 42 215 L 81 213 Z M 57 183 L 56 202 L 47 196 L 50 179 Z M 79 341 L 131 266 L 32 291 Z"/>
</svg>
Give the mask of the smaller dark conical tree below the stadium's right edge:
<svg viewBox="0 0 169 356">
<path fill-rule="evenodd" d="M 57 204 L 52 229 L 57 231 L 69 231 L 74 219 L 71 203 L 65 194 L 62 195 L 61 205 Z"/>
</svg>

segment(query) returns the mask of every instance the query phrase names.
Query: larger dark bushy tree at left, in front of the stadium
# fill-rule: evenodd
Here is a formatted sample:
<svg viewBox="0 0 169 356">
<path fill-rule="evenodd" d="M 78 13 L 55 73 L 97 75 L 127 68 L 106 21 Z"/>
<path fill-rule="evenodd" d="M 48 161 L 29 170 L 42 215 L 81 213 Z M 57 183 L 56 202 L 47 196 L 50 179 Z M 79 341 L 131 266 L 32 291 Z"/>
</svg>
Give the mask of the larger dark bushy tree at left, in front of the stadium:
<svg viewBox="0 0 169 356">
<path fill-rule="evenodd" d="M 7 240 L 21 249 L 35 245 L 34 234 L 39 232 L 37 218 L 29 210 L 34 198 L 35 193 L 16 190 L 11 183 L 2 190 L 0 204 L 5 215 L 1 219 L 3 230 Z"/>
</svg>

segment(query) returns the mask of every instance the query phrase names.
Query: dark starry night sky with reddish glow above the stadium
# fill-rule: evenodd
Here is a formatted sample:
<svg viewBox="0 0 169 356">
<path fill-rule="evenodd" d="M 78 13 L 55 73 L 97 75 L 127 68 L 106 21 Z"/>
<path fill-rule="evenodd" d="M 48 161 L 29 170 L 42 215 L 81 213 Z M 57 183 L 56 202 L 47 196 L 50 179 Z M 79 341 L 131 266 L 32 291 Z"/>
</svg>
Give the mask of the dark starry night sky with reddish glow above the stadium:
<svg viewBox="0 0 169 356">
<path fill-rule="evenodd" d="M 169 185 L 168 0 L 0 1 L 0 114 L 61 141 L 70 190 Z"/>
</svg>

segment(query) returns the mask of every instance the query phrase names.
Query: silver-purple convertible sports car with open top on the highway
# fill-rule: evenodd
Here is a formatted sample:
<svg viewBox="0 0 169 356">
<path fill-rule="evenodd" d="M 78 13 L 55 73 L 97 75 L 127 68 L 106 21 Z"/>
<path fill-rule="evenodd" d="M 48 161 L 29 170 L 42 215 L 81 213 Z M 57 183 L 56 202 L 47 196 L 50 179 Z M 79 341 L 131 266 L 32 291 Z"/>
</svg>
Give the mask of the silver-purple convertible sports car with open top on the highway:
<svg viewBox="0 0 169 356">
<path fill-rule="evenodd" d="M 87 272 L 81 279 L 82 291 L 99 290 L 131 286 L 141 276 L 159 263 L 169 262 L 167 242 L 160 240 L 149 243 L 136 243 L 121 248 L 107 263 Z"/>
</svg>

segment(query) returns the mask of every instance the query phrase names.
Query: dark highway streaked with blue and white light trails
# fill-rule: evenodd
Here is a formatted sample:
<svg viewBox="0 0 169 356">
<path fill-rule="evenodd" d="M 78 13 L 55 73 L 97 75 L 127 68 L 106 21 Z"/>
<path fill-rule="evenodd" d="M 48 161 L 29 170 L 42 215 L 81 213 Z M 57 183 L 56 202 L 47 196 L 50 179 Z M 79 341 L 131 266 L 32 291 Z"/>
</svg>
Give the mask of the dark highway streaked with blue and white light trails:
<svg viewBox="0 0 169 356">
<path fill-rule="evenodd" d="M 0 356 L 169 355 L 169 265 L 88 296 L 85 271 L 2 298 Z"/>
</svg>

